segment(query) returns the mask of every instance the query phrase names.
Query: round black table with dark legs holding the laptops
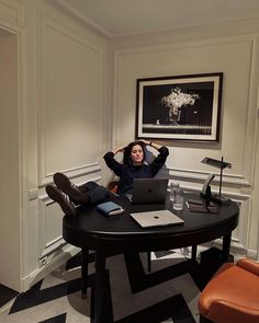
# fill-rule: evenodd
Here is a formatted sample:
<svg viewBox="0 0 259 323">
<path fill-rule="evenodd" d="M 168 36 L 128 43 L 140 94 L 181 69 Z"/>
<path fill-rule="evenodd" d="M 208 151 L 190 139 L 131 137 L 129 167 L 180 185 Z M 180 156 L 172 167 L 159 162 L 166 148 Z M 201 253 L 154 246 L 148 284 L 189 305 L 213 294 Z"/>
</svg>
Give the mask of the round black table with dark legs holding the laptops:
<svg viewBox="0 0 259 323">
<path fill-rule="evenodd" d="M 184 194 L 184 200 L 199 198 Z M 131 205 L 125 196 L 111 200 L 122 205 L 122 215 L 106 217 L 95 206 L 79 207 L 76 216 L 63 219 L 63 237 L 76 246 L 95 251 L 94 322 L 105 322 L 105 254 L 162 251 L 192 245 L 195 259 L 196 245 L 223 237 L 223 261 L 227 261 L 232 231 L 238 224 L 239 208 L 229 201 L 219 206 L 218 214 L 192 212 L 187 204 L 182 211 L 173 211 L 170 201 L 166 205 Z M 130 216 L 157 209 L 171 209 L 184 220 L 183 224 L 142 229 Z"/>
</svg>

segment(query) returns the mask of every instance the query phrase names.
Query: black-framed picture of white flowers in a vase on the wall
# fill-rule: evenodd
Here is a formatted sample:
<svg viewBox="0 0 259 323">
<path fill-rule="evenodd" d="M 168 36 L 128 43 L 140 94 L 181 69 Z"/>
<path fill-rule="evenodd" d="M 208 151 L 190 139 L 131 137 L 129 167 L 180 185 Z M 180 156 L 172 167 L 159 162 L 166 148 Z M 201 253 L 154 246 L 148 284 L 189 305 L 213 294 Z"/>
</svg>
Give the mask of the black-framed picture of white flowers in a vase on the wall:
<svg viewBox="0 0 259 323">
<path fill-rule="evenodd" d="M 137 79 L 136 137 L 218 141 L 223 73 Z"/>
</svg>

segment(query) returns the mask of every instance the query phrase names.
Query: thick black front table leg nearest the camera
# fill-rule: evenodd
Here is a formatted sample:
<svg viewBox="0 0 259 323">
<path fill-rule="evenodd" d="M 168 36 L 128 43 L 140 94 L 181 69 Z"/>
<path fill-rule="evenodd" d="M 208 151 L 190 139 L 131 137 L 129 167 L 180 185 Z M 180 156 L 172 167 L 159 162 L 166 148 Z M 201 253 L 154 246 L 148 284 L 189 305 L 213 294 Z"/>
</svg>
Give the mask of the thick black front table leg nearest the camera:
<svg viewBox="0 0 259 323">
<path fill-rule="evenodd" d="M 105 253 L 95 254 L 94 323 L 105 322 Z"/>
</svg>

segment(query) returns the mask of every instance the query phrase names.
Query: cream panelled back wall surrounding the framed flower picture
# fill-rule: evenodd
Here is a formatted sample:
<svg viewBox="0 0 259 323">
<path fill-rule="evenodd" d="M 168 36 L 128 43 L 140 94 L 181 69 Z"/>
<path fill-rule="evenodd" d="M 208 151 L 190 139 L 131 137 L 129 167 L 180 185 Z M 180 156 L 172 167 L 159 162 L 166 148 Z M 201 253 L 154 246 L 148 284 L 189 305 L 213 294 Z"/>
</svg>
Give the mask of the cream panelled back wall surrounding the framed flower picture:
<svg viewBox="0 0 259 323">
<path fill-rule="evenodd" d="M 114 41 L 113 145 L 122 146 L 135 138 L 136 79 L 223 72 L 221 141 L 161 142 L 170 149 L 167 161 L 170 178 L 179 181 L 187 189 L 201 189 L 206 175 L 215 172 L 215 169 L 201 163 L 204 157 L 221 159 L 223 155 L 233 164 L 230 170 L 224 171 L 223 180 L 224 195 L 240 205 L 239 226 L 233 233 L 233 251 L 235 247 L 235 252 L 257 258 L 259 209 L 256 204 L 254 208 L 251 205 L 258 185 L 254 171 L 259 27 L 255 24 L 254 28 L 249 25 L 246 33 L 244 30 L 246 27 L 239 25 L 234 34 L 232 25 L 229 33 L 225 28 L 224 34 L 222 28 L 218 33 L 211 28 L 213 37 L 209 36 L 210 33 L 205 37 L 204 30 L 196 28 L 196 33 L 195 30 L 185 30 L 185 34 L 179 31 L 179 34 Z M 218 176 L 214 189 L 217 189 L 217 184 Z"/>
</svg>

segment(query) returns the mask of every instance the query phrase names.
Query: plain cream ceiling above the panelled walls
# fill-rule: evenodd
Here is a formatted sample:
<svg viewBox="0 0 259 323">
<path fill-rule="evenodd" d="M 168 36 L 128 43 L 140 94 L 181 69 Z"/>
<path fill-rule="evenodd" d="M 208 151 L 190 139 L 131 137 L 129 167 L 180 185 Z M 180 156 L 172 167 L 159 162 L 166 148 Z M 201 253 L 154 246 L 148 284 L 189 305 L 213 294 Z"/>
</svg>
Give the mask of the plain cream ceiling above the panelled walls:
<svg viewBox="0 0 259 323">
<path fill-rule="evenodd" d="M 259 0 L 48 1 L 110 37 L 259 19 Z"/>
</svg>

